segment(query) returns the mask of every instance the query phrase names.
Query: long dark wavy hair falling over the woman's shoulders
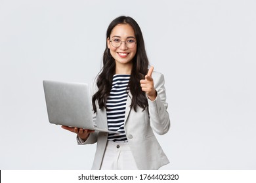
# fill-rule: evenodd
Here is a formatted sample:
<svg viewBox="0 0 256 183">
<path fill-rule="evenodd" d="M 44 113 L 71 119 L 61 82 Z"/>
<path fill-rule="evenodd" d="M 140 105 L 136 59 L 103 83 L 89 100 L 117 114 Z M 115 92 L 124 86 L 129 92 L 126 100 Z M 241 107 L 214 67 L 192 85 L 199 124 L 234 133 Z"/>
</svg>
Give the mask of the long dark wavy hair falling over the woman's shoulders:
<svg viewBox="0 0 256 183">
<path fill-rule="evenodd" d="M 148 57 L 146 56 L 146 50 L 144 45 L 144 39 L 139 25 L 133 18 L 129 16 L 119 16 L 113 20 L 106 31 L 106 39 L 110 37 L 112 29 L 118 24 L 129 24 L 135 31 L 135 38 L 137 40 L 137 52 L 133 58 L 133 69 L 131 71 L 131 77 L 128 84 L 131 92 L 132 101 L 131 107 L 137 111 L 137 106 L 145 109 L 148 107 L 148 101 L 146 99 L 145 92 L 142 92 L 140 88 L 140 80 L 144 78 L 148 72 Z M 100 108 L 106 108 L 106 101 L 110 95 L 112 88 L 112 79 L 116 71 L 116 62 L 114 58 L 108 53 L 108 43 L 106 42 L 106 48 L 103 54 L 103 67 L 96 80 L 98 91 L 93 95 L 93 110 L 96 112 L 96 100 Z"/>
</svg>

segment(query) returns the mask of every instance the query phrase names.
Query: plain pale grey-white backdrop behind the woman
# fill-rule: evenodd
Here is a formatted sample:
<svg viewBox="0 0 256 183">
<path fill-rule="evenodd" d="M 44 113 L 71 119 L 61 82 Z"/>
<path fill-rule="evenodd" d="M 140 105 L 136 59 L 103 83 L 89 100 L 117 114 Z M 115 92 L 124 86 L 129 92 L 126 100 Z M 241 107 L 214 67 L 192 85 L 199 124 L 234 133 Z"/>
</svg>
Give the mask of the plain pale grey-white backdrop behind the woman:
<svg viewBox="0 0 256 183">
<path fill-rule="evenodd" d="M 121 15 L 165 75 L 161 169 L 256 169 L 255 10 L 254 0 L 0 0 L 0 169 L 91 169 L 96 144 L 49 124 L 42 81 L 91 83 Z"/>
</svg>

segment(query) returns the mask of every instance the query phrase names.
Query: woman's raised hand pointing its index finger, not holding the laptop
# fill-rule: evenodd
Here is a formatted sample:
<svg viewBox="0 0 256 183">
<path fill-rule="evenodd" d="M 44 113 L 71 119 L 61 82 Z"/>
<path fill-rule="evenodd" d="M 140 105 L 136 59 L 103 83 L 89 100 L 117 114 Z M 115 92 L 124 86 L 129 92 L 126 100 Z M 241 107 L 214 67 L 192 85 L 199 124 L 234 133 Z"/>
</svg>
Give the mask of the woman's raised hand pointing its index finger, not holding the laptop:
<svg viewBox="0 0 256 183">
<path fill-rule="evenodd" d="M 148 74 L 145 76 L 144 80 L 140 80 L 140 87 L 141 90 L 146 92 L 146 95 L 151 101 L 156 99 L 156 90 L 154 88 L 154 80 L 152 78 L 154 67 L 150 67 L 148 69 Z"/>
</svg>

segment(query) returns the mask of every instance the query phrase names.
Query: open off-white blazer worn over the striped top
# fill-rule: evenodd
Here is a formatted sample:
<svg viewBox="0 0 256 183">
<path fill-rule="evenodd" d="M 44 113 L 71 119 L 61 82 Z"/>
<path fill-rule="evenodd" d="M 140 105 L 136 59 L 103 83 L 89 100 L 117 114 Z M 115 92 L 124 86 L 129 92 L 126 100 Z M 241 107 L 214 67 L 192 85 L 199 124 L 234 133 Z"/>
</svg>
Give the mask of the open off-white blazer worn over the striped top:
<svg viewBox="0 0 256 183">
<path fill-rule="evenodd" d="M 138 169 L 159 169 L 169 163 L 167 156 L 158 143 L 154 132 L 158 135 L 167 133 L 170 128 L 170 119 L 167 112 L 164 77 L 161 73 L 153 72 L 154 87 L 157 91 L 155 101 L 148 99 L 148 108 L 143 110 L 137 107 L 137 112 L 131 109 L 131 93 L 127 97 L 125 111 L 125 133 L 131 152 Z M 108 128 L 106 109 L 99 109 L 98 105 L 95 123 L 97 127 Z M 153 132 L 154 131 L 154 132 Z M 92 169 L 100 169 L 104 151 L 108 140 L 108 133 L 91 133 L 87 141 L 77 137 L 78 144 L 93 144 L 97 142 L 95 159 Z"/>
</svg>

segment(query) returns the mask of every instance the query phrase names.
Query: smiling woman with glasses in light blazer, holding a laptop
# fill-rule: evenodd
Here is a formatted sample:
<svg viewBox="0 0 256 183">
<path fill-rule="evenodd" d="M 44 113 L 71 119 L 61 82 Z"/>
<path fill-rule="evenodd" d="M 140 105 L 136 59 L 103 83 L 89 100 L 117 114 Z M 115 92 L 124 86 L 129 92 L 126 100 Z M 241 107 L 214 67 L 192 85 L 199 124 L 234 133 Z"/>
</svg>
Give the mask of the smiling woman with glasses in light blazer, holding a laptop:
<svg viewBox="0 0 256 183">
<path fill-rule="evenodd" d="M 97 142 L 92 169 L 159 169 L 169 163 L 154 135 L 170 128 L 164 78 L 148 66 L 137 22 L 113 20 L 92 101 L 97 126 L 121 133 L 62 126 L 77 134 L 78 144 Z"/>
</svg>

